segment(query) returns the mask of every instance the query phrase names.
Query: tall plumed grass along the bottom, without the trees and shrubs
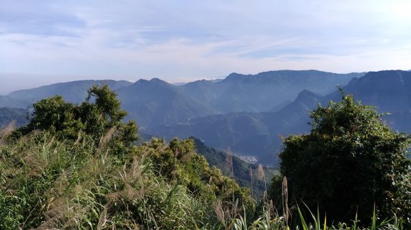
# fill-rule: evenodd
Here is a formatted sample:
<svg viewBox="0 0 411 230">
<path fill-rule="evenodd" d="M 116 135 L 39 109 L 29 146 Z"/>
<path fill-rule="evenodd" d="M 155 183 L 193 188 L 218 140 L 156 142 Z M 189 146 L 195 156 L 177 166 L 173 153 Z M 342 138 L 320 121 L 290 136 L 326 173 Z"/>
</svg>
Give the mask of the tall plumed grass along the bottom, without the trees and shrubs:
<svg viewBox="0 0 411 230">
<path fill-rule="evenodd" d="M 257 214 L 231 190 L 226 191 L 232 199 L 192 192 L 187 184 L 162 175 L 165 170 L 153 161 L 152 156 L 161 155 L 168 145 L 156 142 L 116 155 L 109 144 L 112 132 L 97 146 L 81 133 L 69 142 L 40 131 L 0 143 L 0 229 L 360 229 L 356 219 L 351 225 L 329 225 L 318 212 L 314 216 L 300 207 L 295 217 L 300 223 L 290 227 L 285 178 L 283 213 L 266 192 Z M 182 160 L 189 164 L 188 158 Z M 182 170 L 176 164 L 171 167 Z M 213 180 L 221 180 L 219 186 L 234 186 L 227 178 L 206 180 L 203 190 L 212 190 Z M 305 219 L 304 210 L 312 219 Z M 395 216 L 379 221 L 374 212 L 371 222 L 361 229 L 401 230 Z"/>
</svg>

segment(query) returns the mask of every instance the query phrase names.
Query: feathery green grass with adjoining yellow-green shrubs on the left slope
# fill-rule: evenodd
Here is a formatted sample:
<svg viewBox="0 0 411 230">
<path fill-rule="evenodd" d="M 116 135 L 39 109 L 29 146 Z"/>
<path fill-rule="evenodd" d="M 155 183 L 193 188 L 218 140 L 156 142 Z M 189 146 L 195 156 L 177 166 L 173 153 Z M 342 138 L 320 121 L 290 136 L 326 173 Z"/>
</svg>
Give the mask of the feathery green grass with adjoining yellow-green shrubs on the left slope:
<svg viewBox="0 0 411 230">
<path fill-rule="evenodd" d="M 126 155 L 108 146 L 47 131 L 0 145 L 0 229 L 219 229 L 212 210 L 234 216 L 233 194 L 253 211 L 249 190 L 188 140 L 153 139 Z"/>
</svg>

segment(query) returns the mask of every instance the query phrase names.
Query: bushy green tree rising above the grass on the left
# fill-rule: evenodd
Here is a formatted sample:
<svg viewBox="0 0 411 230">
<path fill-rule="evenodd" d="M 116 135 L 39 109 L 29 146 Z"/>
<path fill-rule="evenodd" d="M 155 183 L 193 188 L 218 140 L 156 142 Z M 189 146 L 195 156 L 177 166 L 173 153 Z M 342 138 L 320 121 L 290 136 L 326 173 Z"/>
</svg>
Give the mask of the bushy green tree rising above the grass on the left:
<svg viewBox="0 0 411 230">
<path fill-rule="evenodd" d="M 76 140 L 80 134 L 88 135 L 95 143 L 110 139 L 117 149 L 129 148 L 137 141 L 134 121 L 124 123 L 127 113 L 108 85 L 94 85 L 88 89 L 88 97 L 82 104 L 64 101 L 61 96 L 42 99 L 33 104 L 29 124 L 12 134 L 16 139 L 34 130 L 47 130 L 57 138 Z"/>
</svg>

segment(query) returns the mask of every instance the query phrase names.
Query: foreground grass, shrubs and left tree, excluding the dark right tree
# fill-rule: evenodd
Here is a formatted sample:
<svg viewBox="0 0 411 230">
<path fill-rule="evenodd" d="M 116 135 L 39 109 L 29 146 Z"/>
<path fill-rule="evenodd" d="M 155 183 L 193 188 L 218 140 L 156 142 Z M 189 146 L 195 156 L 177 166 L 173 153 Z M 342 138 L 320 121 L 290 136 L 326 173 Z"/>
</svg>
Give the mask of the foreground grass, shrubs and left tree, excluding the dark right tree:
<svg viewBox="0 0 411 230">
<path fill-rule="evenodd" d="M 89 94 L 94 102 L 80 105 L 41 100 L 28 126 L 2 130 L 0 229 L 360 229 L 355 216 L 329 225 L 302 203 L 292 224 L 287 192 L 277 208 L 266 195 L 254 201 L 209 167 L 192 140 L 134 146 L 136 126 L 121 121 L 115 94 Z M 365 229 L 401 229 L 402 216 L 377 214 Z"/>
</svg>

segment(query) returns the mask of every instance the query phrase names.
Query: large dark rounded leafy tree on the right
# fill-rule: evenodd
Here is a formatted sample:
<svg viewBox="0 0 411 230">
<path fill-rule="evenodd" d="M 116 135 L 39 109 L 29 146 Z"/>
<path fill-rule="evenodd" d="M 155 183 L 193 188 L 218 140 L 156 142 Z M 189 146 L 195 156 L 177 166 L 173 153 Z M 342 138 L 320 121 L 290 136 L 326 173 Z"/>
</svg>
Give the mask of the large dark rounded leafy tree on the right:
<svg viewBox="0 0 411 230">
<path fill-rule="evenodd" d="M 393 132 L 372 106 L 344 94 L 310 117 L 311 133 L 288 136 L 279 154 L 290 197 L 314 210 L 319 205 L 336 221 L 358 212 L 366 222 L 375 205 L 380 217 L 396 214 L 410 227 L 410 136 Z"/>
</svg>

